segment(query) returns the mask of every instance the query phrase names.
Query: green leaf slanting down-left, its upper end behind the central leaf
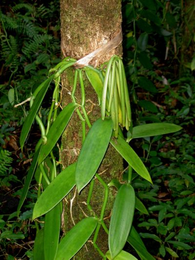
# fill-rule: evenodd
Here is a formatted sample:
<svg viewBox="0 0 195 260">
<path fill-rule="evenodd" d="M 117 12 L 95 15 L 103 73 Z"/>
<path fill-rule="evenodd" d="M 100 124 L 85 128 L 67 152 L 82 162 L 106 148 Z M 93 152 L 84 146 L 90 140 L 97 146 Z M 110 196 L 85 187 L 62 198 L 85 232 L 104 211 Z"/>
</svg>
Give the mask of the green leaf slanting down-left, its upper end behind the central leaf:
<svg viewBox="0 0 195 260">
<path fill-rule="evenodd" d="M 35 203 L 33 220 L 54 208 L 75 186 L 75 167 L 65 168 L 43 191 Z"/>
</svg>

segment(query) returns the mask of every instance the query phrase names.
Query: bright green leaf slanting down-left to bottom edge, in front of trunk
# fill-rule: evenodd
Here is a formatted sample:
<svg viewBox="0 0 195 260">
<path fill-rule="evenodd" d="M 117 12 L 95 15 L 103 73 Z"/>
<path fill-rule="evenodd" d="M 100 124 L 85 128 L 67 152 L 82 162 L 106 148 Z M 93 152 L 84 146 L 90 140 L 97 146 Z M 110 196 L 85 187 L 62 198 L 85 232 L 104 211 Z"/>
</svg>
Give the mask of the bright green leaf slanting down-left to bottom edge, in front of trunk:
<svg viewBox="0 0 195 260">
<path fill-rule="evenodd" d="M 98 220 L 85 218 L 78 222 L 61 240 L 56 260 L 70 260 L 94 232 Z"/>
</svg>

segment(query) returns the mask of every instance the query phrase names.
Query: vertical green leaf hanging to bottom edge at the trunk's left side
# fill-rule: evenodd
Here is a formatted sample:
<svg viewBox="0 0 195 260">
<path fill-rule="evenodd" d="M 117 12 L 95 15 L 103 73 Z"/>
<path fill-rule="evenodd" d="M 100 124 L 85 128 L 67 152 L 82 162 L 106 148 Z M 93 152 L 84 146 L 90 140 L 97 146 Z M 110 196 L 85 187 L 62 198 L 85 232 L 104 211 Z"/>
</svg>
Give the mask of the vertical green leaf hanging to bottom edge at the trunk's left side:
<svg viewBox="0 0 195 260">
<path fill-rule="evenodd" d="M 56 258 L 59 232 L 61 224 L 60 204 L 57 204 L 52 210 L 45 215 L 44 224 L 44 256 L 47 260 Z"/>
</svg>

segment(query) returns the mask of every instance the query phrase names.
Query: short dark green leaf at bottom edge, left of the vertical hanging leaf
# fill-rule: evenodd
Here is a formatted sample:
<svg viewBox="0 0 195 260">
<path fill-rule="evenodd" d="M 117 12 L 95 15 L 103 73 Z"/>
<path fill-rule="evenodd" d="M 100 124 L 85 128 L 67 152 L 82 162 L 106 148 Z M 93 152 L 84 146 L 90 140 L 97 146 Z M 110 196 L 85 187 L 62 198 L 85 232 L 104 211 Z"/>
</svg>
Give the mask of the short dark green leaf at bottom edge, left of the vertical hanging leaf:
<svg viewBox="0 0 195 260">
<path fill-rule="evenodd" d="M 44 260 L 44 250 L 43 250 L 43 237 L 44 237 L 44 228 L 38 231 L 33 250 L 33 260 Z"/>
</svg>

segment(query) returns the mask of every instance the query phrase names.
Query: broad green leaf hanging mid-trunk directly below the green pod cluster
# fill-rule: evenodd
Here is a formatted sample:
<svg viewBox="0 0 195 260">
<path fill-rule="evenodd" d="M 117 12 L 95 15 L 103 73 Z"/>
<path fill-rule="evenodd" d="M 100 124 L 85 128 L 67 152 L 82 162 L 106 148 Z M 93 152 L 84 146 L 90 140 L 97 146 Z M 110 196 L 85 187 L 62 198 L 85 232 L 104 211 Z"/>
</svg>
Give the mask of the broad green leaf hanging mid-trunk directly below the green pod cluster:
<svg viewBox="0 0 195 260">
<path fill-rule="evenodd" d="M 78 156 L 75 179 L 78 192 L 94 177 L 113 131 L 112 119 L 98 119 L 89 130 Z"/>
</svg>

